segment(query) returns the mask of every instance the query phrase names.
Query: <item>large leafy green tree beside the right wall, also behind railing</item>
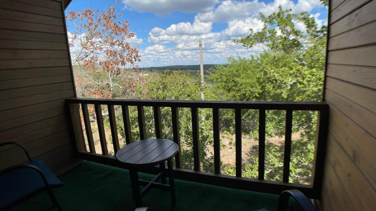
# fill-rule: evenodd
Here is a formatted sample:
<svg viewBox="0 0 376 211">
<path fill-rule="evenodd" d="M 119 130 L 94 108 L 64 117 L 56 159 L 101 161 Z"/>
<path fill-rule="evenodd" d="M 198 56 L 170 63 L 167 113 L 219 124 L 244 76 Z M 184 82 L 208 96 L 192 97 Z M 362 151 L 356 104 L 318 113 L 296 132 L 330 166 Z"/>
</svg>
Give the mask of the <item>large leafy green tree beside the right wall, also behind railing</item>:
<svg viewBox="0 0 376 211">
<path fill-rule="evenodd" d="M 321 101 L 326 53 L 326 26 L 318 27 L 307 12 L 293 14 L 282 10 L 265 17 L 260 14 L 264 28 L 233 41 L 246 48 L 263 44 L 267 49 L 245 58 L 229 58 L 227 67 L 217 66 L 209 76 L 214 82 L 212 98 L 239 101 Z M 305 31 L 296 28 L 296 23 Z M 292 143 L 292 182 L 309 182 L 313 163 L 317 112 L 294 111 L 293 133 L 300 139 Z M 284 136 L 285 112 L 267 111 L 266 136 Z M 233 112 L 227 111 L 222 121 L 233 127 Z M 258 137 L 258 111 L 243 112 L 243 132 Z M 279 180 L 283 170 L 283 148 L 267 142 L 265 146 L 265 176 Z M 253 163 L 245 166 L 245 176 L 257 175 L 258 147 L 250 151 Z M 235 174 L 233 166 L 224 171 Z"/>
</svg>

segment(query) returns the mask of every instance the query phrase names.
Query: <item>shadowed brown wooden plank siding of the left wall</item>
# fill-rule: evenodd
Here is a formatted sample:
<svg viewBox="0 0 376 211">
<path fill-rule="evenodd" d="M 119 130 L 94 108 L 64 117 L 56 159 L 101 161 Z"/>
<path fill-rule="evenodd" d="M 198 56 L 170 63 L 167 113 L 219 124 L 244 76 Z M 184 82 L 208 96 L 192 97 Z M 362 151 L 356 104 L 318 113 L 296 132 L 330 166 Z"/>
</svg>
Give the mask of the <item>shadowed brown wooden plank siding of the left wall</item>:
<svg viewBox="0 0 376 211">
<path fill-rule="evenodd" d="M 74 84 L 61 0 L 0 1 L 0 142 L 22 143 L 55 172 L 73 158 L 65 98 Z M 0 169 L 23 163 L 0 148 Z"/>
</svg>

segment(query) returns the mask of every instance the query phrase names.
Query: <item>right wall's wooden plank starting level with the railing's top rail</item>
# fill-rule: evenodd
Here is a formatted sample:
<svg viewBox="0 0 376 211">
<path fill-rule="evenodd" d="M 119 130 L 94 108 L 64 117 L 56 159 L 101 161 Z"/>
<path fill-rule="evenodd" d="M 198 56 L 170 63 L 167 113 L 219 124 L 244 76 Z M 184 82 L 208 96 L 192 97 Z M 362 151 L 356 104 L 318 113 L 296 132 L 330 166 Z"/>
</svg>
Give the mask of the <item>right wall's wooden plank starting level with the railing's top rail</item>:
<svg viewBox="0 0 376 211">
<path fill-rule="evenodd" d="M 368 131 L 373 137 L 376 137 L 376 114 L 361 107 L 358 104 L 338 95 L 337 93 L 326 89 L 326 101 L 332 106 L 346 114 L 356 124 Z"/>
</svg>

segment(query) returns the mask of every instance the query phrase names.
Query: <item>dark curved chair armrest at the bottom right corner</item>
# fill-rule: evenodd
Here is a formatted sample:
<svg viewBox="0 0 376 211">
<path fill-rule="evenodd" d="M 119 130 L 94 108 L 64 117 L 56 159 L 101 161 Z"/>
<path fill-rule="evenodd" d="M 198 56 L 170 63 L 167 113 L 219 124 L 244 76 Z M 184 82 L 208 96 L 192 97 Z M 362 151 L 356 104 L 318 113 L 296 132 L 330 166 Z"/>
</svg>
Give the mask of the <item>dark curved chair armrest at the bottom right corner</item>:
<svg viewBox="0 0 376 211">
<path fill-rule="evenodd" d="M 304 211 L 317 211 L 311 201 L 299 190 L 285 190 L 279 195 L 277 211 L 286 211 L 288 199 L 292 196 Z"/>
</svg>

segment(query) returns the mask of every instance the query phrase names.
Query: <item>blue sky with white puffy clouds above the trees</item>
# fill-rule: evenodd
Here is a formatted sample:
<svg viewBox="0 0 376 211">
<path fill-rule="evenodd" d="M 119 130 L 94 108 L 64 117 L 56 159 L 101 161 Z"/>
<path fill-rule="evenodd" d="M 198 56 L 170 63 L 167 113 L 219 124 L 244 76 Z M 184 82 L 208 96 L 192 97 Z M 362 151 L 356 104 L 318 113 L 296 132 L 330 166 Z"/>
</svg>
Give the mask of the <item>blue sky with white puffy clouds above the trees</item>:
<svg viewBox="0 0 376 211">
<path fill-rule="evenodd" d="M 103 11 L 113 4 L 114 0 L 73 0 L 66 12 L 88 8 Z M 120 20 L 129 20 L 140 55 L 146 55 L 196 44 L 199 39 L 203 43 L 233 45 L 231 39 L 246 36 L 250 28 L 261 30 L 259 12 L 268 15 L 279 5 L 294 13 L 307 11 L 319 25 L 326 25 L 327 8 L 319 0 L 117 0 L 116 9 L 123 14 Z M 203 46 L 203 59 L 206 64 L 223 64 L 230 56 L 249 57 L 262 50 L 207 44 Z M 198 45 L 194 45 L 144 56 L 139 66 L 199 64 L 198 52 Z"/>
</svg>

